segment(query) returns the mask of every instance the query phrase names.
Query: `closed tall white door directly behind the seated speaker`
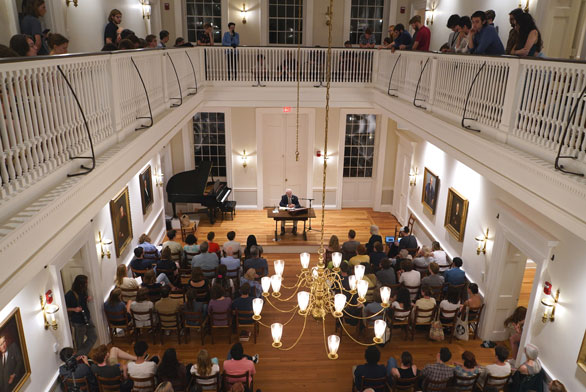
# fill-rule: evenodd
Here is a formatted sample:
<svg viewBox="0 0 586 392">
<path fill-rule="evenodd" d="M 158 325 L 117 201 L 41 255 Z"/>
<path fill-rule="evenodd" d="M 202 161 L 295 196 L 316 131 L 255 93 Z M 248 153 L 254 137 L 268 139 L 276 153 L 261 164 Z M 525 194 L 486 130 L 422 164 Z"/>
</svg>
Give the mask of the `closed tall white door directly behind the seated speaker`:
<svg viewBox="0 0 586 392">
<path fill-rule="evenodd" d="M 306 114 L 299 115 L 299 160 L 296 160 L 297 121 L 295 114 L 263 115 L 264 207 L 278 205 L 287 188 L 291 188 L 297 197 L 307 197 L 308 121 Z"/>
</svg>

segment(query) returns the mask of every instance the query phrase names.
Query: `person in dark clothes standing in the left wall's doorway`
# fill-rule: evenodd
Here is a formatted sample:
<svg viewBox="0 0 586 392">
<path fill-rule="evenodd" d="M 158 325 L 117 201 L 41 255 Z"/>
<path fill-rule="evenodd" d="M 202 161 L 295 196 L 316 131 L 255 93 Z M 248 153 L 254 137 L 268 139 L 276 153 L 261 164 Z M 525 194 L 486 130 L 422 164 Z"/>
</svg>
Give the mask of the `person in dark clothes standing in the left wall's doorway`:
<svg viewBox="0 0 586 392">
<path fill-rule="evenodd" d="M 71 290 L 65 294 L 67 313 L 73 327 L 73 339 L 78 355 L 87 355 L 96 343 L 96 327 L 92 323 L 87 306 L 92 297 L 88 295 L 88 277 L 77 275 Z"/>
</svg>

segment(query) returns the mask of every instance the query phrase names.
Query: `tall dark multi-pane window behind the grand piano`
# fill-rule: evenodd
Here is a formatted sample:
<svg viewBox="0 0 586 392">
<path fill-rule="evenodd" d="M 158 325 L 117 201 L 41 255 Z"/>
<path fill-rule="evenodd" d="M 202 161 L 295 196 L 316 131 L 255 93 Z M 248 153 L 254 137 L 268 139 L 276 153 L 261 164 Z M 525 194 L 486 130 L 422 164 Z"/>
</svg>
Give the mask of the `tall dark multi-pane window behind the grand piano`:
<svg viewBox="0 0 586 392">
<path fill-rule="evenodd" d="M 226 126 L 224 113 L 196 113 L 193 116 L 195 165 L 212 161 L 211 174 L 226 177 Z"/>
</svg>

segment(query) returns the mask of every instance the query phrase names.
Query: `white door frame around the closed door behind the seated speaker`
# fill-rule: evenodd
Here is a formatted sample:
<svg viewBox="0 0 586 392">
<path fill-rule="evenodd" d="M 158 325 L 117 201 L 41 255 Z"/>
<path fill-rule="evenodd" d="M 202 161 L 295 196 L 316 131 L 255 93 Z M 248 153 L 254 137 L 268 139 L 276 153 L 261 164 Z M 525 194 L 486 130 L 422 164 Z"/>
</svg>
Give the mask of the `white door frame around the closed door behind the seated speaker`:
<svg viewBox="0 0 586 392">
<path fill-rule="evenodd" d="M 297 113 L 297 109 L 291 109 L 288 115 L 294 115 Z M 263 116 L 266 114 L 283 114 L 281 108 L 262 108 L 256 109 L 256 207 L 262 210 L 264 205 L 264 193 L 263 193 L 263 127 L 262 121 Z M 313 197 L 313 155 L 315 150 L 315 109 L 313 108 L 301 108 L 299 114 L 307 114 L 307 141 L 305 147 L 307 148 L 307 184 L 306 184 L 306 198 Z M 284 190 L 283 190 L 284 192 Z"/>
</svg>

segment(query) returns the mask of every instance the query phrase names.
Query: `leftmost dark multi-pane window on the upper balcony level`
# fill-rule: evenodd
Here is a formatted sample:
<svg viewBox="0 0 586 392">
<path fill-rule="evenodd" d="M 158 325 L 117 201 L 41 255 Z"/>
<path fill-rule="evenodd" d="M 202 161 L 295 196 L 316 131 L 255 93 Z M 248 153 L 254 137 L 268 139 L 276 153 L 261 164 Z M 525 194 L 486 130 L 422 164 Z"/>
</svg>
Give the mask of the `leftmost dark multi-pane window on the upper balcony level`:
<svg viewBox="0 0 586 392">
<path fill-rule="evenodd" d="M 203 26 L 209 23 L 214 28 L 214 43 L 222 42 L 221 0 L 186 0 L 187 38 L 196 42 Z"/>
</svg>

